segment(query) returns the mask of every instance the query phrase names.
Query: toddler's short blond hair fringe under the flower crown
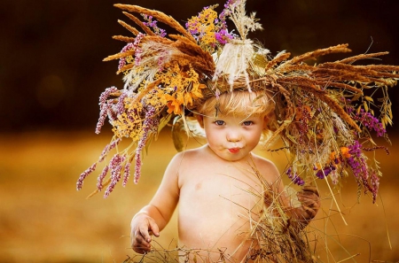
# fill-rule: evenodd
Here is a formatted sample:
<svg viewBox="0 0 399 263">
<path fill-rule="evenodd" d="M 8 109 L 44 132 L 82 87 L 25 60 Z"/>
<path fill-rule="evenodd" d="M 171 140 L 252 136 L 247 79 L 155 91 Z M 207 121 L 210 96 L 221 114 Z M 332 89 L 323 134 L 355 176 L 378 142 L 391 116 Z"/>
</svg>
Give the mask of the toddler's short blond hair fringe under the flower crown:
<svg viewBox="0 0 399 263">
<path fill-rule="evenodd" d="M 269 93 L 263 90 L 234 90 L 225 92 L 219 97 L 210 97 L 198 107 L 200 114 L 209 115 L 262 115 L 266 116 L 274 110 L 274 101 Z"/>
</svg>

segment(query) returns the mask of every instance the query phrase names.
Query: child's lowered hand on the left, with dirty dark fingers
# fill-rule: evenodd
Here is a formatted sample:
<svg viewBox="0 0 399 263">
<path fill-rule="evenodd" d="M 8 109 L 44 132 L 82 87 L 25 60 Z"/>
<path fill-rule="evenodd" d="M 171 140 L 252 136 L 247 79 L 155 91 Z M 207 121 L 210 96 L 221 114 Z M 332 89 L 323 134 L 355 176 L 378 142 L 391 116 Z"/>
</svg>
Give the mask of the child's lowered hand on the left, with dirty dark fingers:
<svg viewBox="0 0 399 263">
<path fill-rule="evenodd" d="M 131 220 L 130 242 L 133 250 L 140 254 L 151 251 L 151 235 L 160 236 L 155 220 L 145 213 L 137 213 Z"/>
</svg>

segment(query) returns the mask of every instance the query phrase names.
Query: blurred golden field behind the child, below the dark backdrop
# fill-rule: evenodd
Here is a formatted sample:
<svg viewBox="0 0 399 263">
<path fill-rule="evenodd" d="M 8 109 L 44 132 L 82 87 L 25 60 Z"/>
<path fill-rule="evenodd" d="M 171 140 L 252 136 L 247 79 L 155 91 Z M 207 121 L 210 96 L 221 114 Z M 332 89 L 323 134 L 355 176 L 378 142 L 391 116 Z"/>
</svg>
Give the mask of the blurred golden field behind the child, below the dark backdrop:
<svg viewBox="0 0 399 263">
<path fill-rule="evenodd" d="M 131 256 L 129 222 L 152 197 L 168 160 L 175 154 L 168 137 L 167 131 L 153 143 L 138 185 L 129 182 L 125 189 L 118 185 L 107 199 L 101 195 L 85 199 L 94 190 L 97 174 L 91 174 L 80 192 L 75 190 L 76 179 L 98 158 L 109 134 L 0 135 L 0 262 L 122 262 Z M 356 205 L 356 189 L 348 180 L 341 195 L 343 203 L 339 200 L 348 226 L 337 213 L 327 220 L 323 212 L 310 226 L 322 229 L 331 238 L 337 238 L 334 234 L 339 233 L 340 242 L 349 253 L 360 253 L 345 262 L 399 261 L 399 141 L 393 138 L 393 143 L 389 156 L 379 152 L 384 173 L 380 192 L 386 214 L 381 200 L 372 205 L 368 197 L 362 196 Z M 284 168 L 284 157 L 274 154 L 270 159 Z M 327 192 L 322 190 L 323 195 Z M 324 201 L 325 212 L 331 204 L 331 200 Z M 160 244 L 168 246 L 174 237 L 176 217 L 161 233 Z M 347 258 L 331 238 L 330 262 Z M 320 240 L 320 251 L 321 244 Z"/>
</svg>

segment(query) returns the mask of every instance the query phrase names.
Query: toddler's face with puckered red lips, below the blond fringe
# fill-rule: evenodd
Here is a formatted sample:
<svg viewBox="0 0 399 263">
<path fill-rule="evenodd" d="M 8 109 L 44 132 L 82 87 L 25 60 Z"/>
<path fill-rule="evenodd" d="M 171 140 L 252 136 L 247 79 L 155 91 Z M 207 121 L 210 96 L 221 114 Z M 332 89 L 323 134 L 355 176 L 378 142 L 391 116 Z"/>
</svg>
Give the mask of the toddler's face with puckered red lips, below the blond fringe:
<svg viewBox="0 0 399 263">
<path fill-rule="evenodd" d="M 244 159 L 254 150 L 266 127 L 263 116 L 223 115 L 217 118 L 200 116 L 209 148 L 217 156 L 229 161 Z"/>
</svg>

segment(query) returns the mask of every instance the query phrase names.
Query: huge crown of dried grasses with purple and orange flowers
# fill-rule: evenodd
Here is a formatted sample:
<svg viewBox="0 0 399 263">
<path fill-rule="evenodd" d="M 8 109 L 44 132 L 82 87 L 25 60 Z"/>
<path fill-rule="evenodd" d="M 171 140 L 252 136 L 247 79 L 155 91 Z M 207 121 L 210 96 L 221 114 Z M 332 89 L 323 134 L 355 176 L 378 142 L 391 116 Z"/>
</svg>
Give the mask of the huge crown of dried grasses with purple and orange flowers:
<svg viewBox="0 0 399 263">
<path fill-rule="evenodd" d="M 209 97 L 256 89 L 271 93 L 275 100 L 276 127 L 265 147 L 278 137 L 282 139 L 284 147 L 278 150 L 290 152 L 286 174 L 294 183 L 330 178 L 338 184 L 352 174 L 359 189 L 371 192 L 375 201 L 381 173 L 378 162 L 367 159 L 364 151 L 387 151 L 372 141 L 372 133 L 387 138 L 385 127 L 392 125 L 387 89 L 396 84 L 399 66 L 354 65 L 360 59 L 378 58 L 387 52 L 313 66 L 305 63 L 327 54 L 349 52 L 348 44 L 293 58 L 283 51 L 272 58 L 269 50 L 246 38 L 262 26 L 254 13 L 246 15 L 245 4 L 245 0 L 229 0 L 220 14 L 215 12 L 216 5 L 205 7 L 198 16 L 188 19 L 185 28 L 162 12 L 115 4 L 143 33 L 119 21 L 134 36 L 113 36 L 127 44 L 104 60 L 119 59 L 117 73 L 124 74 L 125 85 L 101 94 L 96 128 L 98 134 L 108 117 L 114 135 L 98 161 L 79 177 L 78 190 L 98 162 L 114 149 L 116 153 L 98 176 L 96 192 L 107 186 L 107 197 L 121 179 L 125 186 L 133 160 L 137 183 L 142 151 L 162 128 L 171 125 L 175 134 L 177 125 Z M 132 13 L 140 14 L 141 19 Z M 229 31 L 227 19 L 232 20 L 236 31 Z M 177 34 L 168 35 L 158 23 L 172 27 Z M 367 94 L 380 98 L 375 100 Z M 115 147 L 125 138 L 132 140 L 129 147 Z"/>
</svg>

